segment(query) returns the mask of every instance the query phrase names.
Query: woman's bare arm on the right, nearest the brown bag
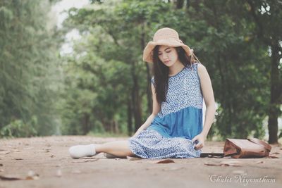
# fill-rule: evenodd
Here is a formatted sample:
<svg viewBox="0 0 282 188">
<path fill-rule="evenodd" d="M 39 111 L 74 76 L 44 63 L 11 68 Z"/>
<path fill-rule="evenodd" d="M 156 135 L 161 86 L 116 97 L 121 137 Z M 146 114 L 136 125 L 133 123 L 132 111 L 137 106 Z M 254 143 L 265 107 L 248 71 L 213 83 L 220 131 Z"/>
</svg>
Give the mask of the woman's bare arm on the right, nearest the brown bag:
<svg viewBox="0 0 282 188">
<path fill-rule="evenodd" d="M 214 101 L 214 92 L 212 89 L 212 81 L 209 77 L 209 73 L 207 73 L 207 69 L 204 65 L 198 65 L 198 74 L 200 77 L 201 89 L 202 94 L 204 97 L 204 103 L 207 106 L 206 116 L 204 118 L 204 127 L 200 134 L 192 139 L 194 142 L 198 140 L 197 145 L 195 146 L 196 149 L 201 149 L 204 146 L 204 140 L 207 139 L 207 134 L 209 133 L 209 129 L 214 123 L 214 115 L 216 113 L 216 104 Z"/>
</svg>

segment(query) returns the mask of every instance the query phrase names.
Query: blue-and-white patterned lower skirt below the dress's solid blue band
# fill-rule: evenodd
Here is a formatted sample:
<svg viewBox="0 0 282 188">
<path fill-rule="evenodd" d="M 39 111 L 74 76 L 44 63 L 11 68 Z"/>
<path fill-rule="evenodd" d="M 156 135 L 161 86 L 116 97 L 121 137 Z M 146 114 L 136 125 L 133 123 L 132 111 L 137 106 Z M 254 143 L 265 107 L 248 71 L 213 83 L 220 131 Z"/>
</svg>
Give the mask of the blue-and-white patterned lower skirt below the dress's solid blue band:
<svg viewBox="0 0 282 188">
<path fill-rule="evenodd" d="M 155 130 L 143 130 L 129 139 L 130 150 L 141 158 L 195 158 L 201 149 L 194 149 L 190 139 L 163 137 Z"/>
</svg>

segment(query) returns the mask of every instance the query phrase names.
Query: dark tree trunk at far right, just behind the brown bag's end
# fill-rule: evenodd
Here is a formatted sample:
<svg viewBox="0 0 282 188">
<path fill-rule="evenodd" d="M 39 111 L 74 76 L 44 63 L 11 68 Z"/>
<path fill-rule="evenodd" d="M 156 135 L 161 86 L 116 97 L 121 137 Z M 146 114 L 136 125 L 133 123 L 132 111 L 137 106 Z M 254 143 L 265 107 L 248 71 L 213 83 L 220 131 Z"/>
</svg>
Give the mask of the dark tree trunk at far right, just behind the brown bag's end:
<svg viewBox="0 0 282 188">
<path fill-rule="evenodd" d="M 280 57 L 278 54 L 278 42 L 271 45 L 271 91 L 270 91 L 270 105 L 269 105 L 269 144 L 278 143 L 278 116 L 280 114 L 280 96 L 281 88 L 279 82 L 278 64 Z"/>
</svg>

